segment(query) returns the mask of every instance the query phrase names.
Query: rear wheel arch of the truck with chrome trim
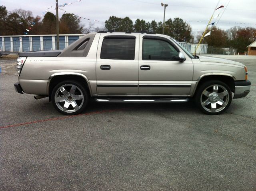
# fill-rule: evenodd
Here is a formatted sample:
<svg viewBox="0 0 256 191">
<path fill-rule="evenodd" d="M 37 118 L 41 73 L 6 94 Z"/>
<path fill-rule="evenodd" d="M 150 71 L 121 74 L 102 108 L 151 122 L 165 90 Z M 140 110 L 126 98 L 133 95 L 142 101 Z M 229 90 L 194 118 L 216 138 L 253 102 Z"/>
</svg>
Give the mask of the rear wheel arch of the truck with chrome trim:
<svg viewBox="0 0 256 191">
<path fill-rule="evenodd" d="M 58 72 L 58 73 L 52 74 L 47 82 L 47 94 L 49 95 L 49 101 L 51 101 L 51 94 L 52 94 L 53 88 L 58 83 L 64 80 L 75 80 L 78 82 L 82 82 L 82 84 L 85 85 L 86 89 L 90 93 L 90 96 L 92 96 L 90 82 L 86 76 L 76 72 Z"/>
</svg>

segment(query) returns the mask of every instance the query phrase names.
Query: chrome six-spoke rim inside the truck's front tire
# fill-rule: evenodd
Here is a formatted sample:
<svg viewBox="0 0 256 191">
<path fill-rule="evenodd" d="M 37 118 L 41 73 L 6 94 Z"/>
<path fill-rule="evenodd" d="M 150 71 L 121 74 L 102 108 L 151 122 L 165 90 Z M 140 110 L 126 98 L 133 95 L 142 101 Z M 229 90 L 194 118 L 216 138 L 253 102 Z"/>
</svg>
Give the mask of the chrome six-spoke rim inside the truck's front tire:
<svg viewBox="0 0 256 191">
<path fill-rule="evenodd" d="M 224 86 L 214 84 L 204 89 L 200 102 L 206 111 L 216 113 L 228 105 L 229 99 L 228 90 Z"/>
</svg>

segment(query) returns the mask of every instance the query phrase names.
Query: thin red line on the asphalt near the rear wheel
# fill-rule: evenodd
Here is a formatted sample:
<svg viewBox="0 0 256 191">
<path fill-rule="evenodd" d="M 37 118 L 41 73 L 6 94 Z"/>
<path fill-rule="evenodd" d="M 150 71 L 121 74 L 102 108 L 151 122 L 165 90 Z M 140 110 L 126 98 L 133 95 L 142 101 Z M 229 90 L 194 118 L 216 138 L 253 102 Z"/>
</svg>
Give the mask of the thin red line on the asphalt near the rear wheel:
<svg viewBox="0 0 256 191">
<path fill-rule="evenodd" d="M 93 111 L 93 112 L 90 112 L 90 113 L 82 113 L 82 114 L 77 114 L 77 115 L 68 115 L 68 116 L 64 116 L 64 117 L 42 119 L 42 120 L 38 120 L 38 121 L 30 121 L 30 122 L 18 123 L 18 124 L 14 124 L 14 125 L 2 126 L 2 127 L 0 127 L 0 129 L 8 128 L 8 127 L 17 127 L 17 126 L 21 126 L 21 125 L 28 125 L 28 124 L 39 123 L 39 122 L 44 122 L 44 121 L 67 119 L 67 118 L 72 118 L 72 117 L 76 117 L 76 116 L 80 116 L 80 115 L 93 115 L 93 114 L 101 114 L 101 113 L 111 113 L 111 112 L 114 112 L 114 111 L 122 111 L 122 110 L 132 109 L 132 108 L 136 108 L 136 107 L 125 107 L 125 108 L 120 108 L 120 109 L 108 109 L 108 110 L 103 110 L 103 111 Z"/>
</svg>

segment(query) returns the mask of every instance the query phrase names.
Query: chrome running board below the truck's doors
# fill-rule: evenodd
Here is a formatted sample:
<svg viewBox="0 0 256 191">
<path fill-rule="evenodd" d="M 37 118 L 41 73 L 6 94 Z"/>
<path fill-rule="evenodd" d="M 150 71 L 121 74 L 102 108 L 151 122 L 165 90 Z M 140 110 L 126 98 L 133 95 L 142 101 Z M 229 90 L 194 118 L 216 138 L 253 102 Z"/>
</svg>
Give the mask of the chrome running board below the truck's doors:
<svg viewBox="0 0 256 191">
<path fill-rule="evenodd" d="M 188 102 L 188 98 L 159 98 L 159 99 L 98 99 L 95 98 L 97 102 L 106 102 L 106 103 L 184 103 Z"/>
</svg>

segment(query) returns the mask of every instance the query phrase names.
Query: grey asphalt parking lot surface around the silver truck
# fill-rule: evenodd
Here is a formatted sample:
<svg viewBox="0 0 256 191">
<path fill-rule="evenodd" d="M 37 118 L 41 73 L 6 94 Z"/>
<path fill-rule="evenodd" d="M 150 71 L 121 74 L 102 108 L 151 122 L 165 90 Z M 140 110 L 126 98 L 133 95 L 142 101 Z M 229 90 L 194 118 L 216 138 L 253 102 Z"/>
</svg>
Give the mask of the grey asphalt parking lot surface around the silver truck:
<svg viewBox="0 0 256 191">
<path fill-rule="evenodd" d="M 256 56 L 251 92 L 222 115 L 194 103 L 90 103 L 65 116 L 18 94 L 0 59 L 0 190 L 256 190 Z"/>
</svg>

